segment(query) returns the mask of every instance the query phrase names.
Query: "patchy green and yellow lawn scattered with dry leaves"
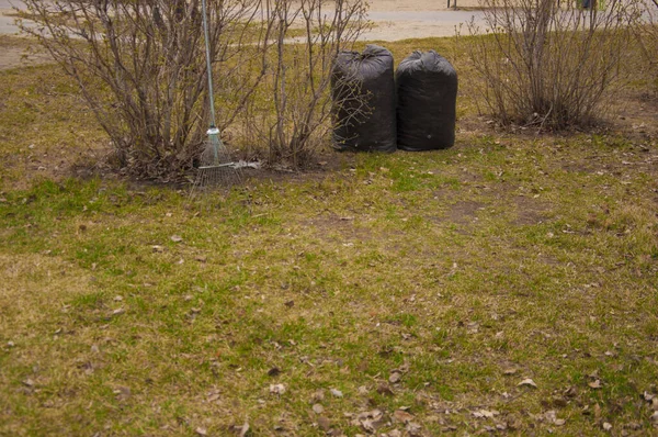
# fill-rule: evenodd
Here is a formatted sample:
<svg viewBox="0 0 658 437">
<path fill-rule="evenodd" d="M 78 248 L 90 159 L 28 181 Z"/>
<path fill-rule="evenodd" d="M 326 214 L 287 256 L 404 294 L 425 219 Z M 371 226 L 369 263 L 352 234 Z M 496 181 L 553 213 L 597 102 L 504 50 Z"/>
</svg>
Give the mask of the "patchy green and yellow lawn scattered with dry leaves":
<svg viewBox="0 0 658 437">
<path fill-rule="evenodd" d="M 71 177 L 57 71 L 0 71 L 0 434 L 658 432 L 655 137 L 496 133 L 466 76 L 452 149 L 191 201 Z"/>
</svg>

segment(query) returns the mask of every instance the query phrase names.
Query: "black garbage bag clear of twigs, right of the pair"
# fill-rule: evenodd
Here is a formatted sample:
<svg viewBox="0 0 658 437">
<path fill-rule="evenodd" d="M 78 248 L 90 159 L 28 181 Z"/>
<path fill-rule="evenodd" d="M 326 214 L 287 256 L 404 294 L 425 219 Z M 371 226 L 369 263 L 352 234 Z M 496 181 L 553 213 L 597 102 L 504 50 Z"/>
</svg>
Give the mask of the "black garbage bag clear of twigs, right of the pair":
<svg viewBox="0 0 658 437">
<path fill-rule="evenodd" d="M 405 150 L 455 144 L 457 72 L 434 51 L 413 52 L 400 63 L 397 83 L 397 143 Z"/>
</svg>

